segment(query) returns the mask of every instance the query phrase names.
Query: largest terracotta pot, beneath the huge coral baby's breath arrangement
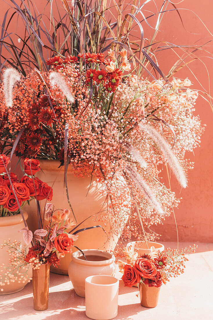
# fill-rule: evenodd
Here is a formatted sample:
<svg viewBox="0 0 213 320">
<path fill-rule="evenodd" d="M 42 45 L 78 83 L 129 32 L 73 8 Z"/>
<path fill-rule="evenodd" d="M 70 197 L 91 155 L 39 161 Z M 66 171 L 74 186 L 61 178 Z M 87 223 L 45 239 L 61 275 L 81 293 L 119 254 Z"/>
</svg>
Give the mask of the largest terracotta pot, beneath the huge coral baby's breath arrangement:
<svg viewBox="0 0 213 320">
<path fill-rule="evenodd" d="M 55 208 L 69 209 L 70 206 L 67 201 L 66 189 L 64 188 L 64 167 L 58 168 L 59 165 L 59 160 L 40 160 L 41 170 L 37 172 L 36 175 L 39 179 L 46 182 L 49 186 L 53 185 L 52 203 L 55 204 Z M 89 216 L 94 215 L 83 222 L 80 225 L 80 228 L 86 228 L 101 224 L 106 233 L 108 233 L 110 230 L 110 217 L 105 221 L 99 221 L 101 214 L 96 214 L 101 210 L 103 211 L 103 213 L 106 212 L 104 211 L 106 210 L 106 207 L 104 206 L 105 196 L 100 194 L 101 183 L 95 181 L 95 177 L 93 177 L 92 183 L 90 185 L 91 176 L 78 178 L 75 177 L 73 173 L 71 173 L 71 170 L 72 168 L 71 166 L 69 166 L 67 170 L 67 186 L 70 202 L 77 222 L 80 223 Z M 45 205 L 45 201 L 46 200 L 41 201 L 41 210 Z M 33 201 L 31 201 L 30 203 L 29 213 L 28 224 L 29 228 L 33 231 L 37 228 L 37 207 L 35 202 Z M 124 218 L 124 220 L 125 219 L 127 221 L 128 217 Z M 94 228 L 79 233 L 79 240 L 75 242 L 75 245 L 80 249 L 95 248 L 108 250 L 110 248 L 115 248 L 119 236 L 119 232 L 117 233 L 117 235 L 110 235 L 110 238 L 107 241 L 107 235 L 104 233 L 102 228 Z M 73 248 L 73 252 L 76 250 L 77 249 Z M 61 259 L 58 268 L 50 267 L 50 271 L 67 275 L 68 267 L 70 261 L 72 260 L 71 256 L 72 254 L 67 253 L 65 257 Z"/>
</svg>

